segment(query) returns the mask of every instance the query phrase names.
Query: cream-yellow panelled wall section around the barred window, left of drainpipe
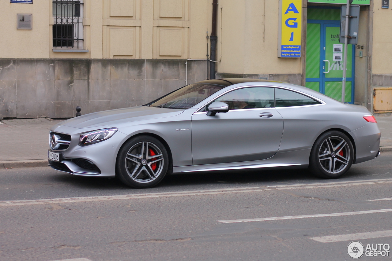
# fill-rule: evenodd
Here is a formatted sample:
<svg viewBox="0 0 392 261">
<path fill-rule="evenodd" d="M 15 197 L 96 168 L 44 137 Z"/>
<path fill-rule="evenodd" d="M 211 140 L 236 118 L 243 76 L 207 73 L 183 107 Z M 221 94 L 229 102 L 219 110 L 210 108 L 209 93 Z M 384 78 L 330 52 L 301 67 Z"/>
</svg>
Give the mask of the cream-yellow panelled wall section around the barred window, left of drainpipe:
<svg viewBox="0 0 392 261">
<path fill-rule="evenodd" d="M 84 0 L 83 49 L 89 52 L 53 52 L 52 0 L 2 0 L 0 58 L 205 59 L 210 5 L 209 0 Z M 33 14 L 32 30 L 16 29 L 17 13 Z"/>
</svg>

